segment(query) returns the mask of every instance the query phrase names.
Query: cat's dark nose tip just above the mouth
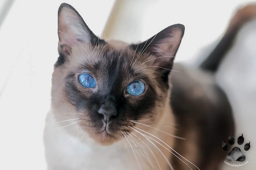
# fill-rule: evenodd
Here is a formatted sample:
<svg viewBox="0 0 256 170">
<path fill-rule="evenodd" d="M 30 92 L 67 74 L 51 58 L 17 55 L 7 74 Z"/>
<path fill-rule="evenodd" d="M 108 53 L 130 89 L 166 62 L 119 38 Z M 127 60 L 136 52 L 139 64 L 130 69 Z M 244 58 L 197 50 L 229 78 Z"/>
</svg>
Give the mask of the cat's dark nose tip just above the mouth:
<svg viewBox="0 0 256 170">
<path fill-rule="evenodd" d="M 111 118 L 113 118 L 114 116 L 117 116 L 116 108 L 113 107 L 111 104 L 110 105 L 103 104 L 98 110 L 98 113 L 104 116 L 103 120 L 105 123 L 110 122 Z"/>
</svg>

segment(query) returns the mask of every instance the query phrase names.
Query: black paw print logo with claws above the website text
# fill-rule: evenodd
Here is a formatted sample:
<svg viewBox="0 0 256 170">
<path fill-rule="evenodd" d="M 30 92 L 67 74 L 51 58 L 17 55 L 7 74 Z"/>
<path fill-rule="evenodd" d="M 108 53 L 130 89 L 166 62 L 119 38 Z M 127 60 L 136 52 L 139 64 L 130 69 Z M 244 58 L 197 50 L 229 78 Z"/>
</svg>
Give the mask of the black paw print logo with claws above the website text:
<svg viewBox="0 0 256 170">
<path fill-rule="evenodd" d="M 234 142 L 235 142 L 235 139 L 233 136 L 230 136 L 228 137 L 228 143 L 230 145 L 234 145 Z M 242 145 L 244 143 L 244 137 L 243 137 L 243 134 L 242 136 L 239 136 L 238 139 L 237 139 L 237 143 L 238 145 Z M 248 151 L 250 149 L 250 142 L 249 143 L 246 143 L 244 145 L 244 150 L 245 151 Z M 227 143 L 224 143 L 224 141 L 222 142 L 222 149 L 224 151 L 227 151 L 228 150 L 228 145 Z M 245 155 L 244 153 L 241 151 L 241 149 L 239 147 L 233 147 L 233 149 L 229 152 L 229 154 L 227 155 L 227 160 L 229 162 L 233 162 L 233 161 L 239 161 L 239 162 L 243 162 L 245 160 Z"/>
</svg>

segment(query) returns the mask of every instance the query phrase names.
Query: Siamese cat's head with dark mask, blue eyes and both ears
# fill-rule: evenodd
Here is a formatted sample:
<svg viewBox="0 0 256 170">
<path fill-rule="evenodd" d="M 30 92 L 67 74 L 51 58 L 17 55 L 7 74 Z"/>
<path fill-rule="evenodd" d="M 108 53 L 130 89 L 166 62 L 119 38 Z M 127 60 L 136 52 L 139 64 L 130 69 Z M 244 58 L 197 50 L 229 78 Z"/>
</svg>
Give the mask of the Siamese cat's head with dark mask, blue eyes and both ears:
<svg viewBox="0 0 256 170">
<path fill-rule="evenodd" d="M 104 41 L 72 6 L 61 4 L 60 56 L 52 77 L 54 114 L 76 119 L 76 125 L 102 145 L 129 133 L 129 120 L 157 121 L 183 34 L 184 26 L 176 24 L 140 44 Z"/>
</svg>

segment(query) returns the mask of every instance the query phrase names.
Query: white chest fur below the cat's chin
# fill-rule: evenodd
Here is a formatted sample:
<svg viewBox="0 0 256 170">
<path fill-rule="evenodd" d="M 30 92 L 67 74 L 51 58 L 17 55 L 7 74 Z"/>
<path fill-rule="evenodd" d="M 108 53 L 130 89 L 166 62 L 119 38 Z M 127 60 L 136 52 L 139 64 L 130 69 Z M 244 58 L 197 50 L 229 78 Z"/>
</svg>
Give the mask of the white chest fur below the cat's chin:
<svg viewBox="0 0 256 170">
<path fill-rule="evenodd" d="M 121 142 L 99 146 L 89 137 L 81 141 L 79 136 L 85 136 L 84 133 L 71 136 L 65 131 L 69 126 L 60 127 L 50 111 L 44 131 L 49 170 L 132 169 L 131 164 L 127 164 L 130 162 L 129 154 Z"/>
</svg>

